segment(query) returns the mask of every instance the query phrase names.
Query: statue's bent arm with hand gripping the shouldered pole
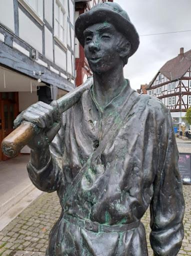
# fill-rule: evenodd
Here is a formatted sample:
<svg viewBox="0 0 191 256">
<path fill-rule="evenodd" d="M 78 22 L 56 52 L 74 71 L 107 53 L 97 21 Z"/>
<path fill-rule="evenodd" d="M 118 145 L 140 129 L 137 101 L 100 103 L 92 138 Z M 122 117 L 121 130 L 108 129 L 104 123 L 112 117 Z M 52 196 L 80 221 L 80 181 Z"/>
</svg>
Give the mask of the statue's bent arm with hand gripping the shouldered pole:
<svg viewBox="0 0 191 256">
<path fill-rule="evenodd" d="M 56 102 L 52 105 L 37 102 L 21 112 L 14 121 L 15 126 L 22 121 L 30 121 L 36 127 L 35 136 L 28 143 L 31 154 L 27 170 L 32 183 L 38 189 L 47 192 L 58 188 L 62 173 L 56 160 L 60 157 L 61 146 L 59 144 L 63 140 L 64 123 L 62 123 Z M 51 153 L 51 148 L 57 150 L 52 150 Z"/>
</svg>

